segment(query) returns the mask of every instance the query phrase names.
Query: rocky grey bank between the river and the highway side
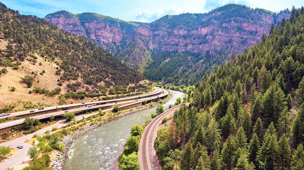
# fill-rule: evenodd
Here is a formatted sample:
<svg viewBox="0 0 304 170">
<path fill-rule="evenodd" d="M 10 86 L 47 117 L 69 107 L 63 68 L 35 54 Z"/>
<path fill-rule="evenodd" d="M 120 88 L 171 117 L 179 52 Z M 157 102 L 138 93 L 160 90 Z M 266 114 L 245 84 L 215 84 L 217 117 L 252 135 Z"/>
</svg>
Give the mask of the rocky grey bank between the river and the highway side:
<svg viewBox="0 0 304 170">
<path fill-rule="evenodd" d="M 159 104 L 157 104 L 159 105 Z M 157 106 L 157 105 L 154 105 L 154 106 Z M 153 107 L 154 107 L 153 106 Z M 144 108 L 139 108 L 139 109 L 135 109 L 135 110 L 132 110 L 132 111 L 128 111 L 126 113 L 122 113 L 122 114 L 119 114 L 119 115 L 115 115 L 113 117 L 113 119 L 111 119 L 110 121 L 112 120 L 115 120 L 115 119 L 118 119 L 120 117 L 123 117 L 125 115 L 128 115 L 128 114 L 131 114 L 131 113 L 134 113 L 136 111 L 140 111 L 140 110 L 144 110 L 144 109 L 147 109 L 147 108 L 151 108 L 152 106 L 149 106 L 149 107 L 144 107 Z M 64 164 L 65 164 L 65 159 L 68 158 L 68 147 L 71 143 L 74 142 L 74 140 L 82 135 L 84 135 L 85 133 L 89 132 L 89 131 L 92 131 L 94 130 L 95 128 L 101 126 L 102 124 L 106 124 L 110 121 L 102 121 L 101 124 L 87 124 L 84 128 L 81 128 L 81 129 L 78 129 L 74 132 L 71 132 L 71 134 L 67 135 L 67 136 L 64 136 L 63 139 L 62 139 L 62 142 L 64 142 L 64 145 L 65 145 L 65 154 L 62 153 L 61 151 L 56 151 L 56 159 L 54 159 L 52 162 L 51 162 L 51 165 L 53 167 L 53 170 L 62 170 L 63 167 L 64 167 Z M 61 144 L 61 143 L 60 143 Z"/>
</svg>

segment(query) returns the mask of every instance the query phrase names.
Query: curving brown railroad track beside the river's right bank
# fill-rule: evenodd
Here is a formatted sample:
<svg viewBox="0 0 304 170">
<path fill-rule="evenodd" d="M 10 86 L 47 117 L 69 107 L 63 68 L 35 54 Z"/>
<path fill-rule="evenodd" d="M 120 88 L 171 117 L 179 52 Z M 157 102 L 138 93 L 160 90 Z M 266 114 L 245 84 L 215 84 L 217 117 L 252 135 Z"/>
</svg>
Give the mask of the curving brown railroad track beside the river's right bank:
<svg viewBox="0 0 304 170">
<path fill-rule="evenodd" d="M 169 108 L 164 111 L 162 114 L 156 116 L 150 124 L 148 124 L 145 128 L 143 134 L 143 142 L 142 142 L 142 162 L 143 162 L 143 170 L 159 170 L 158 162 L 154 161 L 154 155 L 152 154 L 152 150 L 154 148 L 153 142 L 153 132 L 155 131 L 158 124 L 162 121 L 162 119 L 167 116 L 169 113 L 175 110 L 175 108 L 179 108 L 180 105 L 177 105 L 173 108 Z M 148 139 L 149 138 L 149 139 Z"/>
</svg>

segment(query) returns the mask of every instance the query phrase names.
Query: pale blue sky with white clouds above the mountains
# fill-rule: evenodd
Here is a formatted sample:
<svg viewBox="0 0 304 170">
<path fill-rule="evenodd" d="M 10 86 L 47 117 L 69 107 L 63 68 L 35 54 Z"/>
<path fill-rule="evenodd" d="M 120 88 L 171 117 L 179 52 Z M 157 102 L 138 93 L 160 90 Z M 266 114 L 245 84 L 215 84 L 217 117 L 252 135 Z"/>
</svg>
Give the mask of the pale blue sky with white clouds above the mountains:
<svg viewBox="0 0 304 170">
<path fill-rule="evenodd" d="M 43 18 L 50 13 L 66 10 L 73 14 L 84 12 L 107 15 L 125 21 L 152 22 L 165 15 L 207 13 L 229 4 L 243 4 L 279 12 L 304 6 L 303 0 L 0 0 L 20 14 Z M 301 2 L 302 1 L 302 2 Z"/>
</svg>

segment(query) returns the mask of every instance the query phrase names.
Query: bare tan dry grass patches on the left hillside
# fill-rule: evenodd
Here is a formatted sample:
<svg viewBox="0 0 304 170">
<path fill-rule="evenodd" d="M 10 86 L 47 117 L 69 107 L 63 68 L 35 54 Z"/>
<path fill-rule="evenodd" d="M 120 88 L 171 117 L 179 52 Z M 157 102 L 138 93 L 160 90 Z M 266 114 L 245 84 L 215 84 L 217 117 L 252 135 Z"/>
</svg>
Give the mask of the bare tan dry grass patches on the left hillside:
<svg viewBox="0 0 304 170">
<path fill-rule="evenodd" d="M 4 40 L 1 40 L 0 42 L 0 48 L 4 49 L 6 47 L 6 42 Z M 0 69 L 6 68 L 8 72 L 6 74 L 2 74 L 0 76 L 0 85 L 2 87 L 0 88 L 0 108 L 3 108 L 5 105 L 17 103 L 18 100 L 22 101 L 31 101 L 33 104 L 42 103 L 46 105 L 57 105 L 57 103 L 60 101 L 58 97 L 50 97 L 43 94 L 37 94 L 32 93 L 30 94 L 29 91 L 33 89 L 33 87 L 40 87 L 45 88 L 47 90 L 54 90 L 56 87 L 60 87 L 57 85 L 57 79 L 60 78 L 59 75 L 56 75 L 56 67 L 58 66 L 54 62 L 48 62 L 44 61 L 44 59 L 40 56 L 37 56 L 37 62 L 35 65 L 33 62 L 29 62 L 25 60 L 24 62 L 21 62 L 21 65 L 19 65 L 18 70 L 14 70 L 12 67 L 3 67 L 0 66 Z M 42 63 L 42 65 L 39 65 L 39 62 Z M 43 70 L 45 70 L 45 73 L 43 75 L 40 75 Z M 22 82 L 21 78 L 29 75 L 34 77 L 34 72 L 37 74 L 35 76 L 35 81 L 33 82 L 33 86 L 31 88 L 28 88 L 25 83 Z M 39 80 L 39 82 L 37 82 Z M 71 82 L 71 81 L 70 81 Z M 64 93 L 64 87 L 66 86 L 68 82 L 63 83 L 63 86 L 61 86 L 61 93 Z M 15 87 L 16 91 L 12 92 L 9 87 Z M 67 100 L 67 103 L 70 102 L 80 102 L 78 100 L 69 99 Z M 22 108 L 23 106 L 19 104 L 17 106 L 17 109 Z"/>
</svg>

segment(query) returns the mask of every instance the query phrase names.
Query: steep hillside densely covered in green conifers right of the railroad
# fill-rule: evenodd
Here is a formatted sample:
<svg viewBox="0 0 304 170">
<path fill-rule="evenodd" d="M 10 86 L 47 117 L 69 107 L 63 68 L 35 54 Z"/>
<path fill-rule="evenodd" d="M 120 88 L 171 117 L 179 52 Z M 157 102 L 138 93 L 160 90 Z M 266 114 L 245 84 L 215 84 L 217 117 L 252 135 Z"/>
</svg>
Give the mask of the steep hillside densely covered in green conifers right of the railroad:
<svg viewBox="0 0 304 170">
<path fill-rule="evenodd" d="M 304 8 L 196 85 L 155 146 L 164 170 L 304 169 Z"/>
</svg>

